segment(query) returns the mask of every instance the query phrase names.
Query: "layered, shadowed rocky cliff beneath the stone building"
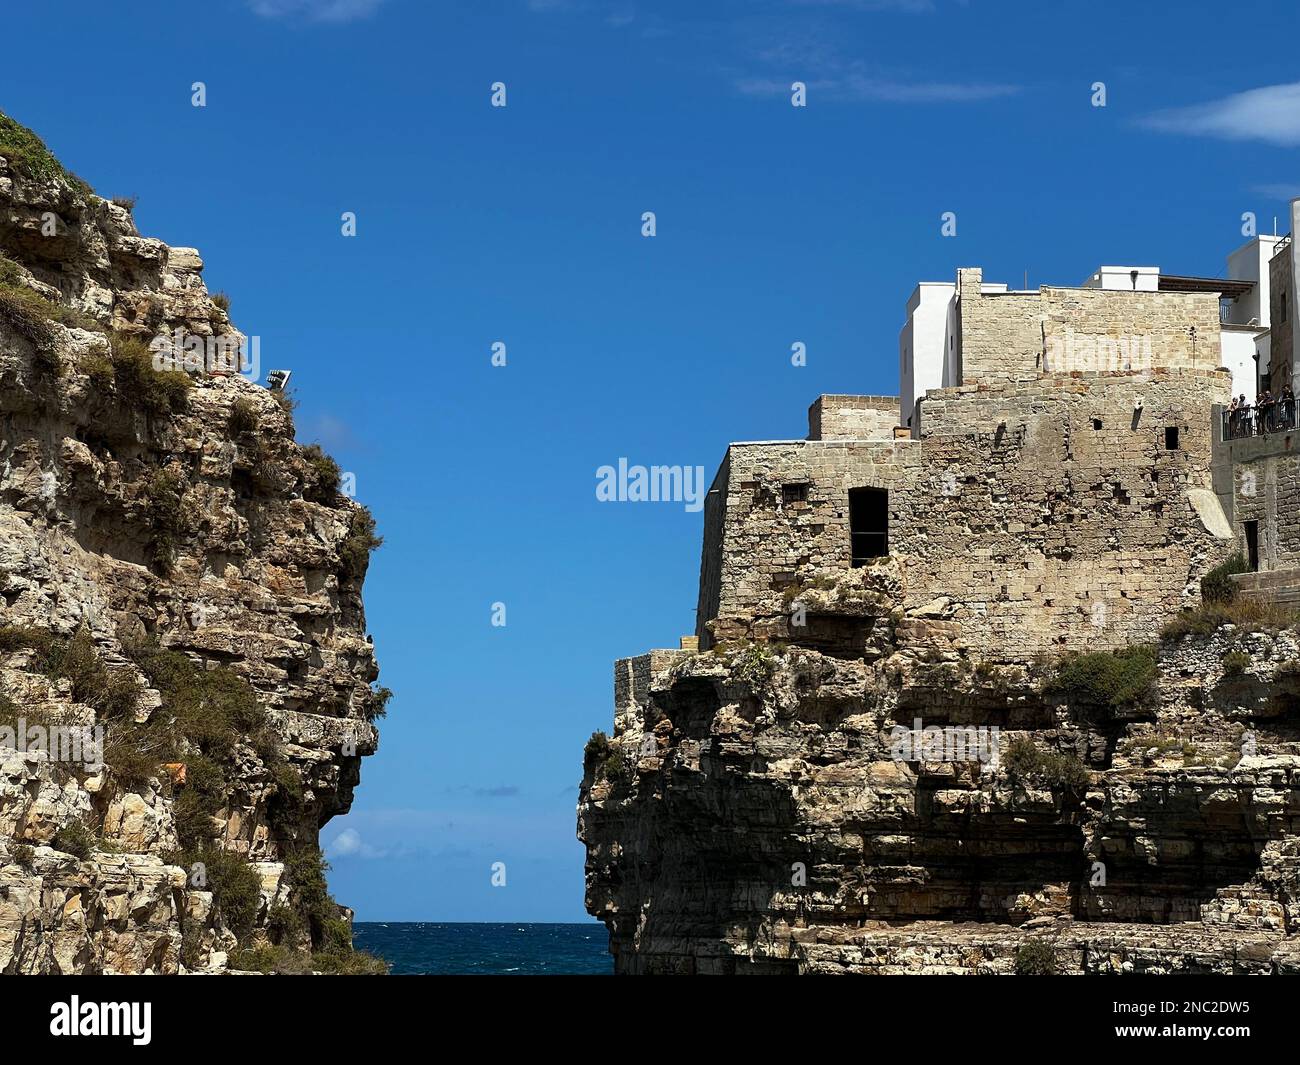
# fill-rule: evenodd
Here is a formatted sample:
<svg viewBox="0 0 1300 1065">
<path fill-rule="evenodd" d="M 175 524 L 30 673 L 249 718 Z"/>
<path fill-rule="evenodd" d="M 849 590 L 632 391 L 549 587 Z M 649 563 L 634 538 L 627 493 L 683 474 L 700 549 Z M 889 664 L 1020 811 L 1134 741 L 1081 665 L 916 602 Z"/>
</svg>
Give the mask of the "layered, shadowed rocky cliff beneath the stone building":
<svg viewBox="0 0 1300 1065">
<path fill-rule="evenodd" d="M 988 659 L 898 584 L 826 572 L 788 641 L 618 663 L 578 805 L 618 971 L 1300 971 L 1292 618 Z"/>
</svg>

